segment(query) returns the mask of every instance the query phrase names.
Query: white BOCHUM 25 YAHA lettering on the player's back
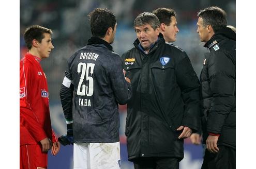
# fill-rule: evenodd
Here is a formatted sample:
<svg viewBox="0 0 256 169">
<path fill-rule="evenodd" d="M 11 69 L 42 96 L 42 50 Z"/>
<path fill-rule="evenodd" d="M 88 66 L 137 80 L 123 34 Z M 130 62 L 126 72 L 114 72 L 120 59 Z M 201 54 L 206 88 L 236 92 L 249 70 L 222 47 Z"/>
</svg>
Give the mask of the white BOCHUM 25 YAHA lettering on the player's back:
<svg viewBox="0 0 256 169">
<path fill-rule="evenodd" d="M 98 54 L 88 52 L 88 53 L 81 53 L 79 59 L 92 59 L 97 60 Z M 95 63 L 83 63 L 80 62 L 78 64 L 78 73 L 81 73 L 79 84 L 78 84 L 78 91 L 77 94 L 80 96 L 92 96 L 93 95 L 93 70 L 94 70 Z M 89 72 L 89 73 L 86 73 Z M 91 76 L 89 76 L 91 74 Z M 84 78 L 86 79 L 86 84 L 84 82 Z M 91 99 L 86 98 L 78 98 L 79 99 L 79 106 L 90 106 L 91 107 Z"/>
</svg>

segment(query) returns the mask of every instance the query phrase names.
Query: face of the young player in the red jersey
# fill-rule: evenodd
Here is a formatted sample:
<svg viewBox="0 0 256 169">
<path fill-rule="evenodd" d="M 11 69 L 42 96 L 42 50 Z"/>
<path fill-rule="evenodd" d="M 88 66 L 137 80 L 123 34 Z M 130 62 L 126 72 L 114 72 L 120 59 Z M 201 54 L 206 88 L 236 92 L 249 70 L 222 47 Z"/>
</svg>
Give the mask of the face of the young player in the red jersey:
<svg viewBox="0 0 256 169">
<path fill-rule="evenodd" d="M 51 50 L 54 48 L 50 33 L 43 33 L 44 38 L 41 43 L 38 42 L 38 54 L 41 59 L 48 58 Z"/>
</svg>

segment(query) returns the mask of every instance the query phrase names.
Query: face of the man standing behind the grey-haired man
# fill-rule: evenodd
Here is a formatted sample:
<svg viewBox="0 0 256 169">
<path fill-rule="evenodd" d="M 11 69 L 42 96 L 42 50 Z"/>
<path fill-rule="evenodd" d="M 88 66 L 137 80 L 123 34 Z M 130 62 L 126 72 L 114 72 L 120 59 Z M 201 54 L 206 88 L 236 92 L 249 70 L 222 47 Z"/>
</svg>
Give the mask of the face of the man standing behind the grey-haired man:
<svg viewBox="0 0 256 169">
<path fill-rule="evenodd" d="M 171 16 L 171 23 L 169 26 L 164 25 L 165 31 L 163 32 L 164 40 L 166 42 L 175 42 L 177 39 L 177 34 L 179 32 L 177 21 L 175 16 Z"/>
</svg>

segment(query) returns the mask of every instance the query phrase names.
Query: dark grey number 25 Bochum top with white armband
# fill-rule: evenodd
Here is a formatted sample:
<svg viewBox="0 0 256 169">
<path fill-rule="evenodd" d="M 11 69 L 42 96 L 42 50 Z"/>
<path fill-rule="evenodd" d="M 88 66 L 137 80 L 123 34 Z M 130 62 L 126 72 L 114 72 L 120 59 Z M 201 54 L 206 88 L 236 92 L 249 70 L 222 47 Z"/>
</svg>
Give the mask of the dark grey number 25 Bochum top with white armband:
<svg viewBox="0 0 256 169">
<path fill-rule="evenodd" d="M 132 94 L 121 57 L 109 43 L 92 37 L 69 58 L 65 77 L 60 95 L 65 118 L 73 119 L 74 143 L 118 142 L 117 103 L 126 104 Z"/>
</svg>

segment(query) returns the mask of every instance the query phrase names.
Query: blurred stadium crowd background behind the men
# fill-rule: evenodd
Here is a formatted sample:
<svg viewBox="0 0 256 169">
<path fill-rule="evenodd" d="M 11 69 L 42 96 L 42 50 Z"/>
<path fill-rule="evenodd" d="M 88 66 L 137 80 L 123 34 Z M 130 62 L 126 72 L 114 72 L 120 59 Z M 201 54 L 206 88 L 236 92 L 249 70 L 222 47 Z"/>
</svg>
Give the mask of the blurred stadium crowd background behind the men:
<svg viewBox="0 0 256 169">
<path fill-rule="evenodd" d="M 66 60 L 74 51 L 86 45 L 91 37 L 89 12 L 94 8 L 108 8 L 116 15 L 117 32 L 113 49 L 122 55 L 133 46 L 136 38 L 133 29 L 135 17 L 144 11 L 152 12 L 158 7 L 165 7 L 177 12 L 179 33 L 174 44 L 185 50 L 199 76 L 207 49 L 198 38 L 197 12 L 213 5 L 227 12 L 228 25 L 236 26 L 234 0 L 23 0 L 20 1 L 20 59 L 26 53 L 23 32 L 27 26 L 37 24 L 53 30 L 54 50 L 50 58 L 42 62 L 42 67 L 48 78 L 50 102 L 59 102 Z"/>
</svg>

